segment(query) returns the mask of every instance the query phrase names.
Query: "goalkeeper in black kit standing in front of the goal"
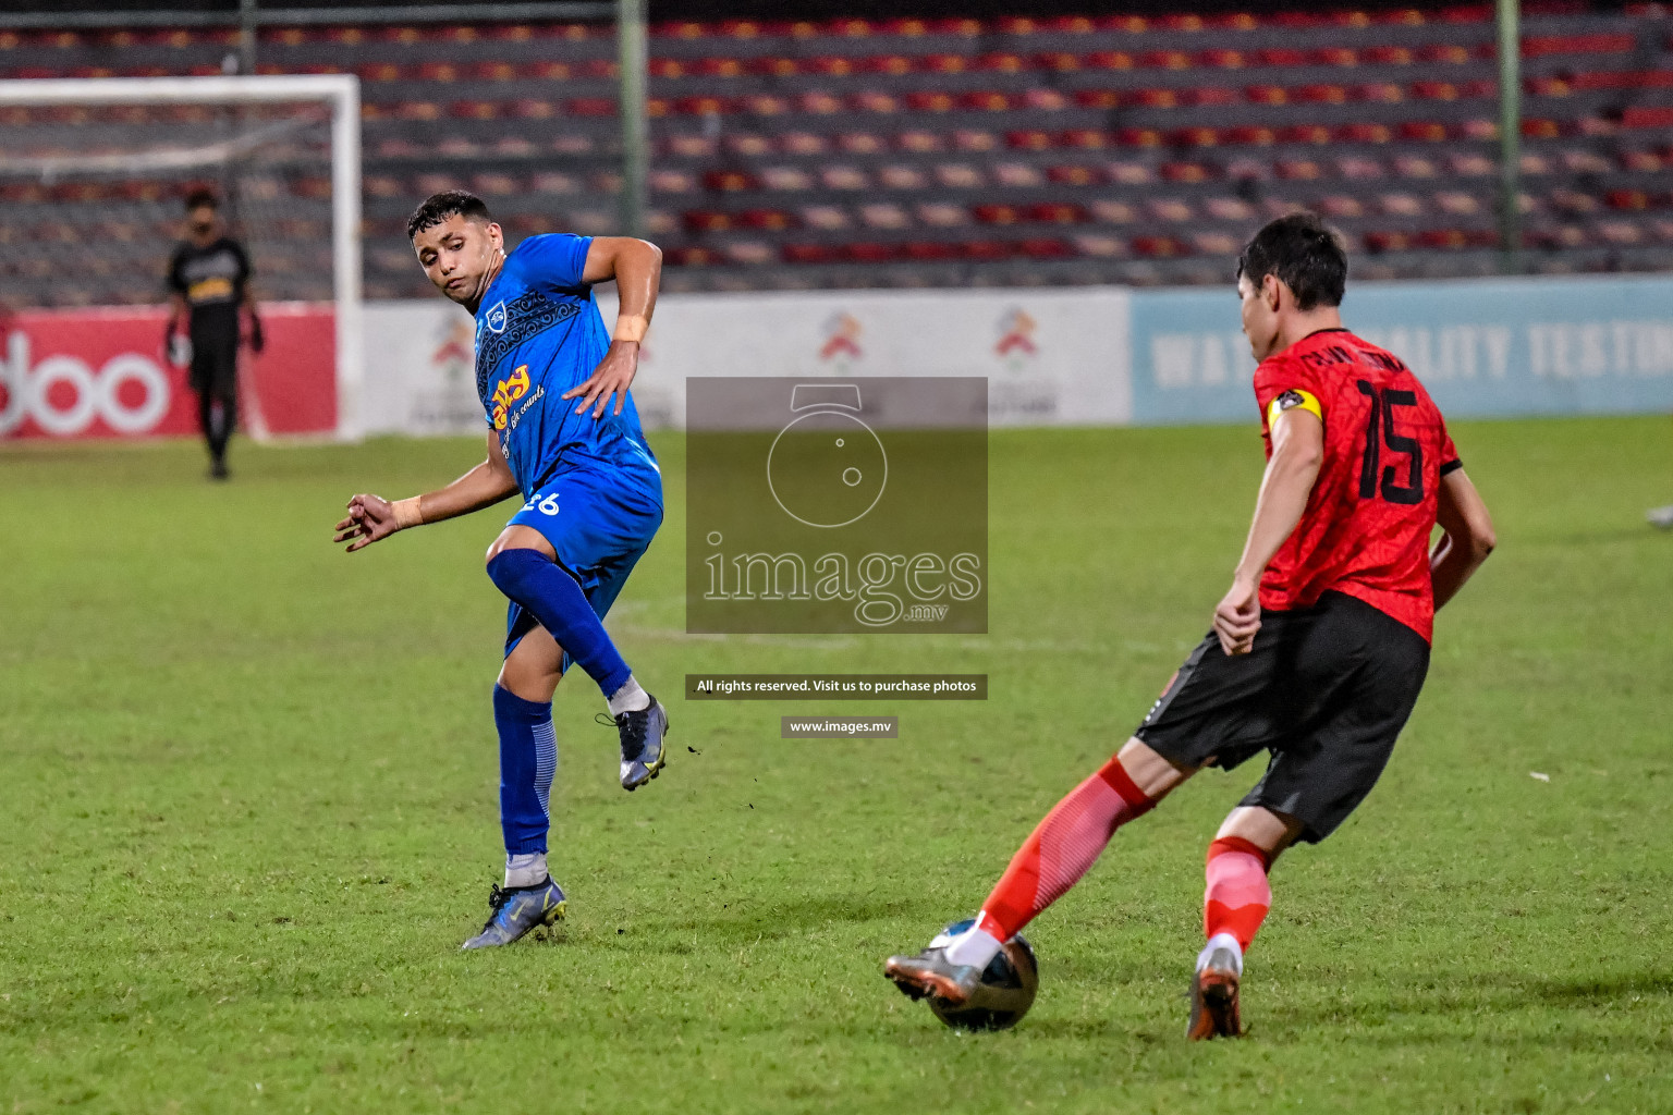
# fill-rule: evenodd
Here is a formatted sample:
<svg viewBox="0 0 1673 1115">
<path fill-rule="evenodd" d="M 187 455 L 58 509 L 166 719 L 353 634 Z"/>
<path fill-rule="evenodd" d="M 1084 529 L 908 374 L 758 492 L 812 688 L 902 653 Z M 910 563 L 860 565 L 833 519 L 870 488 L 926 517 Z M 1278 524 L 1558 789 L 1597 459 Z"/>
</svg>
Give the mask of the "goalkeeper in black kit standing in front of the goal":
<svg viewBox="0 0 1673 1115">
<path fill-rule="evenodd" d="M 209 446 L 209 475 L 226 480 L 226 443 L 238 426 L 238 343 L 249 314 L 249 349 L 263 348 L 261 318 L 249 293 L 249 256 L 226 234 L 221 206 L 209 191 L 186 197 L 186 239 L 169 257 L 169 363 L 191 364 L 197 423 Z M 181 319 L 187 321 L 182 344 Z M 189 353 L 189 356 L 187 356 Z"/>
</svg>

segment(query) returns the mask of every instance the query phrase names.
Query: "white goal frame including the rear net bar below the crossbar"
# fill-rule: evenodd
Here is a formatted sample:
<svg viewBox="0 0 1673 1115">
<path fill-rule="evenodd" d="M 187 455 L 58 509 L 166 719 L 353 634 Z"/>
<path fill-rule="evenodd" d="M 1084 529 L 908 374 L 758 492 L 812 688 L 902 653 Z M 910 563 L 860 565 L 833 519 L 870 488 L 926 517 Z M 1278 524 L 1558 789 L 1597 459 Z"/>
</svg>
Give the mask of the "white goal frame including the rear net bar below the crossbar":
<svg viewBox="0 0 1673 1115">
<path fill-rule="evenodd" d="M 254 77 L 94 77 L 0 80 L 0 109 L 112 105 L 263 105 L 323 104 L 331 114 L 331 298 L 336 334 L 336 436 L 360 438 L 365 430 L 365 331 L 360 293 L 360 79 L 348 74 Z M 206 137 L 132 154 L 18 154 L 0 150 L 10 174 L 112 174 L 124 165 L 181 171 L 224 164 L 254 144 L 263 130 L 241 137 Z M 258 259 L 259 267 L 259 259 Z M 259 276 L 258 276 L 259 283 Z"/>
</svg>

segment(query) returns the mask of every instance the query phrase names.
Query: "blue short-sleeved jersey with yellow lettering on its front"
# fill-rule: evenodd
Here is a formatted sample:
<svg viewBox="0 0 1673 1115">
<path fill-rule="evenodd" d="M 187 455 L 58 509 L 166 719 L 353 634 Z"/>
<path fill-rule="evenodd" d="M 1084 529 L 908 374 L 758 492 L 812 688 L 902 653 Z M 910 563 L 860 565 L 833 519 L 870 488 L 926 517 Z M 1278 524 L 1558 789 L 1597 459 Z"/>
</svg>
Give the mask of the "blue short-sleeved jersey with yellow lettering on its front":
<svg viewBox="0 0 1673 1115">
<path fill-rule="evenodd" d="M 577 468 L 661 490 L 631 395 L 621 415 L 611 400 L 601 418 L 591 408 L 576 415 L 579 401 L 562 398 L 611 346 L 592 286 L 581 277 L 591 246 L 589 236 L 530 236 L 505 257 L 477 309 L 477 395 L 525 498 Z"/>
</svg>

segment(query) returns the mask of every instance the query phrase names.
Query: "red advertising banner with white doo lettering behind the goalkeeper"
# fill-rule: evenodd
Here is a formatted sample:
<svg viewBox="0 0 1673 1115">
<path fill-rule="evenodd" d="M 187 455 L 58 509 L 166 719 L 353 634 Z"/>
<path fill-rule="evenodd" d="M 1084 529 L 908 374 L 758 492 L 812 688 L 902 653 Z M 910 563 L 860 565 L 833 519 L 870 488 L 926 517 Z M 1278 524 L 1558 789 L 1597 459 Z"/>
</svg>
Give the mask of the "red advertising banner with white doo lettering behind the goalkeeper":
<svg viewBox="0 0 1673 1115">
<path fill-rule="evenodd" d="M 0 321 L 0 440 L 197 433 L 184 368 L 162 354 L 162 308 L 42 309 Z M 258 436 L 336 431 L 328 304 L 261 308 L 266 348 L 239 349 L 239 426 Z"/>
</svg>

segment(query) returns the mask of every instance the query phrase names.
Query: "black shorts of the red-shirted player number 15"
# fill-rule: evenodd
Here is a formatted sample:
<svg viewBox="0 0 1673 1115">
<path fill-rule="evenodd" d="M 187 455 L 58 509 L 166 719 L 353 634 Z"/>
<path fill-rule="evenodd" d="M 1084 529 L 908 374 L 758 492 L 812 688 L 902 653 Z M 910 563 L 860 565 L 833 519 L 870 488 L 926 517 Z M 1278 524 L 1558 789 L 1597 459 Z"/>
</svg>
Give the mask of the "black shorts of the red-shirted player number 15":
<svg viewBox="0 0 1673 1115">
<path fill-rule="evenodd" d="M 1255 649 L 1228 657 L 1210 634 L 1134 732 L 1183 767 L 1230 771 L 1270 751 L 1240 802 L 1297 817 L 1322 841 L 1377 784 L 1429 674 L 1429 644 L 1363 600 L 1327 592 L 1263 612 Z"/>
</svg>

